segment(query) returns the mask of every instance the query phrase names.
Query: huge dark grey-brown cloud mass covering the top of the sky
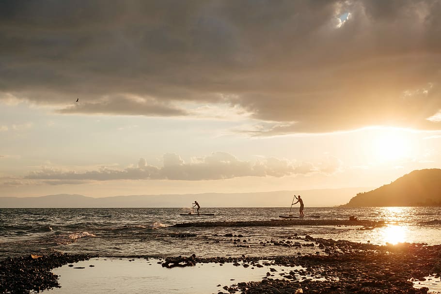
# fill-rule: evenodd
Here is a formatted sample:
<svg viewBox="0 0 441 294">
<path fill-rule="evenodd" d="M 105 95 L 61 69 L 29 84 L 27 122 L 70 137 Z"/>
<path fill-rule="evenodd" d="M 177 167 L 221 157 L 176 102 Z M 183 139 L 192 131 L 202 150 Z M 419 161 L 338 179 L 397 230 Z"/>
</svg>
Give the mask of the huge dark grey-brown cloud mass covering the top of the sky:
<svg viewBox="0 0 441 294">
<path fill-rule="evenodd" d="M 0 92 L 62 113 L 226 102 L 276 122 L 250 130 L 268 135 L 440 128 L 440 14 L 440 0 L 1 1 Z"/>
</svg>

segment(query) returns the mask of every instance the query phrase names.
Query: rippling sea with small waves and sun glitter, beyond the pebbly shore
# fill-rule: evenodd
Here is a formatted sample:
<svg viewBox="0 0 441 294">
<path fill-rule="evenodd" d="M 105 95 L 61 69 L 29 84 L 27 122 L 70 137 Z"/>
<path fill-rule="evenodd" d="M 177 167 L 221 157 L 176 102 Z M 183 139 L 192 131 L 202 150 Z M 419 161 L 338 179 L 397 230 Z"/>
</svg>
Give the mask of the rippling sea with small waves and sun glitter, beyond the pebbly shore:
<svg viewBox="0 0 441 294">
<path fill-rule="evenodd" d="M 173 228 L 195 221 L 250 221 L 277 219 L 288 208 L 202 208 L 215 216 L 181 216 L 188 208 L 1 208 L 0 258 L 54 251 L 128 256 L 277 256 L 315 252 L 314 247 L 270 246 L 288 236 L 344 239 L 386 244 L 397 242 L 441 244 L 441 207 L 305 208 L 320 219 L 395 221 L 374 230 L 357 226 L 203 227 Z M 293 208 L 292 213 L 298 213 Z M 187 237 L 175 237 L 191 234 Z M 233 234 L 227 237 L 225 234 Z M 236 236 L 234 236 L 236 235 Z M 237 235 L 242 235 L 237 237 Z M 296 240 L 302 243 L 302 239 Z"/>
</svg>

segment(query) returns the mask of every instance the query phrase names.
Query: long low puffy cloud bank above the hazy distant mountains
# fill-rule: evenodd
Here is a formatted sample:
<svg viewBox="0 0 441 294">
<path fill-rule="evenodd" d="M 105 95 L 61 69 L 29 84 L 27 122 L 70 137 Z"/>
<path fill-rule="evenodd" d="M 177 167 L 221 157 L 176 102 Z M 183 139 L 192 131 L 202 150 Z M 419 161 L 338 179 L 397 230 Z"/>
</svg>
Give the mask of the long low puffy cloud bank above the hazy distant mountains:
<svg viewBox="0 0 441 294">
<path fill-rule="evenodd" d="M 324 162 L 295 164 L 288 160 L 275 157 L 259 159 L 256 162 L 242 161 L 225 152 L 213 152 L 211 155 L 193 157 L 185 162 L 179 155 L 165 154 L 163 166 L 156 167 L 147 164 L 140 158 L 137 166 L 126 169 L 110 169 L 107 167 L 89 171 L 61 170 L 45 167 L 30 172 L 25 179 L 45 180 L 45 183 L 57 185 L 75 181 L 110 181 L 110 180 L 220 180 L 236 177 L 284 177 L 297 174 L 323 172 L 326 174 L 338 170 L 340 161 L 330 157 Z"/>
</svg>

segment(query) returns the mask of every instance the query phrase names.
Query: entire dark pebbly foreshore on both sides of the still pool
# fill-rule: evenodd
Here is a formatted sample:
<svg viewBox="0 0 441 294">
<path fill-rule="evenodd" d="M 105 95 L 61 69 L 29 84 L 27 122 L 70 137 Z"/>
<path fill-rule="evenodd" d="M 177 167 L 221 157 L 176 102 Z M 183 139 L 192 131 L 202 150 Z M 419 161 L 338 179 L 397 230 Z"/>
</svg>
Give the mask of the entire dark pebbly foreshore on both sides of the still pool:
<svg viewBox="0 0 441 294">
<path fill-rule="evenodd" d="M 424 281 L 428 276 L 440 279 L 441 245 L 400 243 L 380 246 L 313 238 L 309 235 L 304 240 L 314 244 L 315 248 L 320 248 L 320 252 L 308 255 L 291 253 L 287 256 L 242 255 L 214 258 L 193 254 L 189 257 L 160 258 L 159 263 L 167 268 L 194 266 L 197 263 L 217 263 L 220 266 L 233 263 L 250 270 L 269 266 L 270 271 L 261 281 L 219 285 L 223 287 L 218 294 L 425 294 L 428 289 L 414 288 L 413 281 Z M 58 277 L 51 269 L 91 257 L 94 256 L 54 253 L 47 256 L 6 258 L 0 261 L 0 293 L 30 293 L 60 287 Z M 271 265 L 286 266 L 288 269 L 278 272 Z M 293 269 L 289 270 L 289 267 Z"/>
</svg>

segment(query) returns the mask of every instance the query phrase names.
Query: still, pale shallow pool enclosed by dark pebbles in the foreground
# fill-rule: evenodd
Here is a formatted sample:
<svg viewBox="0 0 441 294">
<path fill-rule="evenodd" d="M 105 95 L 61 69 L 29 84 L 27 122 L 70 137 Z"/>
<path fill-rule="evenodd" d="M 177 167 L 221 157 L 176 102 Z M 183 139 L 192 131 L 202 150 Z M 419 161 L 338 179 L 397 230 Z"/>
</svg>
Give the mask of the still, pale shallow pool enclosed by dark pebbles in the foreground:
<svg viewBox="0 0 441 294">
<path fill-rule="evenodd" d="M 49 293 L 218 293 L 223 286 L 260 281 L 267 272 L 272 279 L 283 279 L 301 266 L 264 265 L 248 268 L 233 263 L 197 263 L 195 266 L 165 268 L 157 259 L 97 258 L 52 270 L 60 276 L 62 288 Z M 242 263 L 241 263 L 242 264 Z M 90 265 L 94 265 L 91 267 Z M 76 268 L 82 267 L 82 268 Z M 253 269 L 252 269 L 253 267 Z M 273 270 L 271 271 L 270 268 Z M 275 271 L 274 271 L 275 270 Z M 300 278 L 300 277 L 299 277 Z M 220 285 L 220 286 L 217 286 Z"/>
</svg>

